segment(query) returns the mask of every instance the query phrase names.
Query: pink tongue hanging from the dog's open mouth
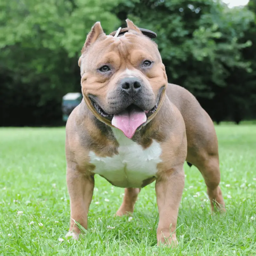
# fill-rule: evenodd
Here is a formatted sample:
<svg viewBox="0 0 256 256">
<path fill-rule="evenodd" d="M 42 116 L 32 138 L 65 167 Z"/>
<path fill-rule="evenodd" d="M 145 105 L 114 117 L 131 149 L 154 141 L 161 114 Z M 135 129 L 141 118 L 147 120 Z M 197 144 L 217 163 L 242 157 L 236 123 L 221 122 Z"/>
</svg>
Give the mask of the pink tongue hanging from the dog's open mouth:
<svg viewBox="0 0 256 256">
<path fill-rule="evenodd" d="M 147 121 L 147 116 L 140 108 L 132 108 L 130 111 L 114 115 L 112 125 L 124 132 L 124 135 L 131 139 L 137 128 Z"/>
</svg>

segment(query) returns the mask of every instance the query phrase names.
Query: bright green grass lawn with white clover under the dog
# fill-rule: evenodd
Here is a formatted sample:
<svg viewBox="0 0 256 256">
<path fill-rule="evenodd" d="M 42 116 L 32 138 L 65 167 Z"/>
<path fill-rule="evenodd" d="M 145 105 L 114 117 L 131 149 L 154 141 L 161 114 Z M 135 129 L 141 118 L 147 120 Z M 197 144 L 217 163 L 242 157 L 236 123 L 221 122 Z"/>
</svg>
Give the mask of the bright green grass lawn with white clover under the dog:
<svg viewBox="0 0 256 256">
<path fill-rule="evenodd" d="M 216 129 L 228 212 L 210 214 L 201 174 L 185 165 L 176 249 L 156 246 L 154 184 L 142 189 L 132 219 L 114 218 L 124 190 L 100 177 L 86 235 L 67 240 L 65 129 L 0 129 L 0 255 L 256 255 L 256 125 Z"/>
</svg>

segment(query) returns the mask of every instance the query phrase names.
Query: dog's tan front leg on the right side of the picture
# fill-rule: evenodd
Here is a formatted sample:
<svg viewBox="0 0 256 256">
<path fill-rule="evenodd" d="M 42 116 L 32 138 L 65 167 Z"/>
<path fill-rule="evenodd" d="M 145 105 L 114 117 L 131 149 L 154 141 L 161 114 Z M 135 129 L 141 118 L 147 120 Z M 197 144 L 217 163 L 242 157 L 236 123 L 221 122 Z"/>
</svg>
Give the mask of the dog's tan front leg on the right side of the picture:
<svg viewBox="0 0 256 256">
<path fill-rule="evenodd" d="M 162 172 L 156 180 L 156 200 L 159 211 L 157 244 L 178 244 L 176 224 L 180 200 L 184 188 L 183 165 Z"/>
</svg>

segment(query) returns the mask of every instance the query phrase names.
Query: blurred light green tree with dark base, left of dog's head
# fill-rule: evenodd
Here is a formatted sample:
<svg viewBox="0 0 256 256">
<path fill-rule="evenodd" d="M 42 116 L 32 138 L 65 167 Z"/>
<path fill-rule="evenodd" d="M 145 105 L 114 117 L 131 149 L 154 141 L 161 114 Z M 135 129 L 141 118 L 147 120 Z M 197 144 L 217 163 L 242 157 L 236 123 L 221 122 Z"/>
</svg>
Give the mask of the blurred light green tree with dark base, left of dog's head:
<svg viewBox="0 0 256 256">
<path fill-rule="evenodd" d="M 95 20 L 106 32 L 119 23 L 118 0 L 0 2 L 0 125 L 56 124 L 61 99 L 80 91 L 77 65 Z"/>
</svg>

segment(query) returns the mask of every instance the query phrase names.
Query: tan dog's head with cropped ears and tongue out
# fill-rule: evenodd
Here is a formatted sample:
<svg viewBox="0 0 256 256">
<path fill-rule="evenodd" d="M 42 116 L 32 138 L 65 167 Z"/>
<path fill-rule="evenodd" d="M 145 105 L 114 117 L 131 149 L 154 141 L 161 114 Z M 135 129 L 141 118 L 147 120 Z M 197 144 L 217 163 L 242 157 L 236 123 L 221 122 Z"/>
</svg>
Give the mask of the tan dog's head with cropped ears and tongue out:
<svg viewBox="0 0 256 256">
<path fill-rule="evenodd" d="M 107 36 L 95 23 L 78 64 L 87 107 L 132 138 L 161 107 L 168 83 L 157 45 L 126 22 L 128 32 L 122 36 Z"/>
</svg>

